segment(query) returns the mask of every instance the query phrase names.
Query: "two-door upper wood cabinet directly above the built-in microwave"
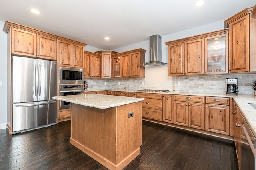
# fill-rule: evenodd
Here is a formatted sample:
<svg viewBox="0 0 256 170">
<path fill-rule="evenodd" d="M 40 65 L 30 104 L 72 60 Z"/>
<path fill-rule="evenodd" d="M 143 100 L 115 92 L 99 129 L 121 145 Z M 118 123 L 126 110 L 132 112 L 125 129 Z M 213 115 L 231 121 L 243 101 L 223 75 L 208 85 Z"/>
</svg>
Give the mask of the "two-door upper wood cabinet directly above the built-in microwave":
<svg viewBox="0 0 256 170">
<path fill-rule="evenodd" d="M 84 46 L 69 41 L 57 40 L 58 66 L 83 68 Z"/>
</svg>

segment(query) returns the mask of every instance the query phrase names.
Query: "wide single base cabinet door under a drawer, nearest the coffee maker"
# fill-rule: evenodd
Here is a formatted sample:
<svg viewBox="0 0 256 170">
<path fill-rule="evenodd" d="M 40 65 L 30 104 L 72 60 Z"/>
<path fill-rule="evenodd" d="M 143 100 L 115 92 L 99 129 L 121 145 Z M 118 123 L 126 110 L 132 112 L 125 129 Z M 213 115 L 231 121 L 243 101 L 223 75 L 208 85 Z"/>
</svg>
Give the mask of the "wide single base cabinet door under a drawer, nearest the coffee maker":
<svg viewBox="0 0 256 170">
<path fill-rule="evenodd" d="M 206 104 L 205 130 L 229 135 L 229 106 Z"/>
</svg>

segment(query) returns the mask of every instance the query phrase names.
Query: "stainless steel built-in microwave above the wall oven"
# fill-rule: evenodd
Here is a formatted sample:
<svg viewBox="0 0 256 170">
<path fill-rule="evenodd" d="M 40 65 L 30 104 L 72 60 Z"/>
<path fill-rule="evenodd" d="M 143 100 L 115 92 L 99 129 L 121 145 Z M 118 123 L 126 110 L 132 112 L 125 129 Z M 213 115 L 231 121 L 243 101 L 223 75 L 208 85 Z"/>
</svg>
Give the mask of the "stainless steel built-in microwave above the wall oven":
<svg viewBox="0 0 256 170">
<path fill-rule="evenodd" d="M 84 69 L 59 67 L 59 84 L 84 84 Z"/>
</svg>

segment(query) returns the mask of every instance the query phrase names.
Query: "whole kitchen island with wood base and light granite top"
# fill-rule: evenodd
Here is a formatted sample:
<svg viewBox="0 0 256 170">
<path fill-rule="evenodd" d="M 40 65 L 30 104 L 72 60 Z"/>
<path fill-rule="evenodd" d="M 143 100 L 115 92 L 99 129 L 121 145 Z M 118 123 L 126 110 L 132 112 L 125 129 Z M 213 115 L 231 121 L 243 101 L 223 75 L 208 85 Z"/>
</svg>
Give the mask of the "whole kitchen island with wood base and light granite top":
<svg viewBox="0 0 256 170">
<path fill-rule="evenodd" d="M 121 170 L 140 154 L 142 100 L 81 94 L 56 96 L 71 103 L 70 143 L 110 170 Z"/>
</svg>

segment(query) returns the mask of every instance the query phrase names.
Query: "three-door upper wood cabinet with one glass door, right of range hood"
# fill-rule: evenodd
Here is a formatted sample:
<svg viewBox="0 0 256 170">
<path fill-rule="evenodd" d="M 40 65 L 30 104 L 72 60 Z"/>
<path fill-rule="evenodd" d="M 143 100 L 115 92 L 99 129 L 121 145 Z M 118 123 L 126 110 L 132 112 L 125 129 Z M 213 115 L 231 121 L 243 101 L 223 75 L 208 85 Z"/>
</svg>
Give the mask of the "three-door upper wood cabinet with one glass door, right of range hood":
<svg viewBox="0 0 256 170">
<path fill-rule="evenodd" d="M 166 44 L 168 76 L 228 73 L 228 29 Z"/>
</svg>

